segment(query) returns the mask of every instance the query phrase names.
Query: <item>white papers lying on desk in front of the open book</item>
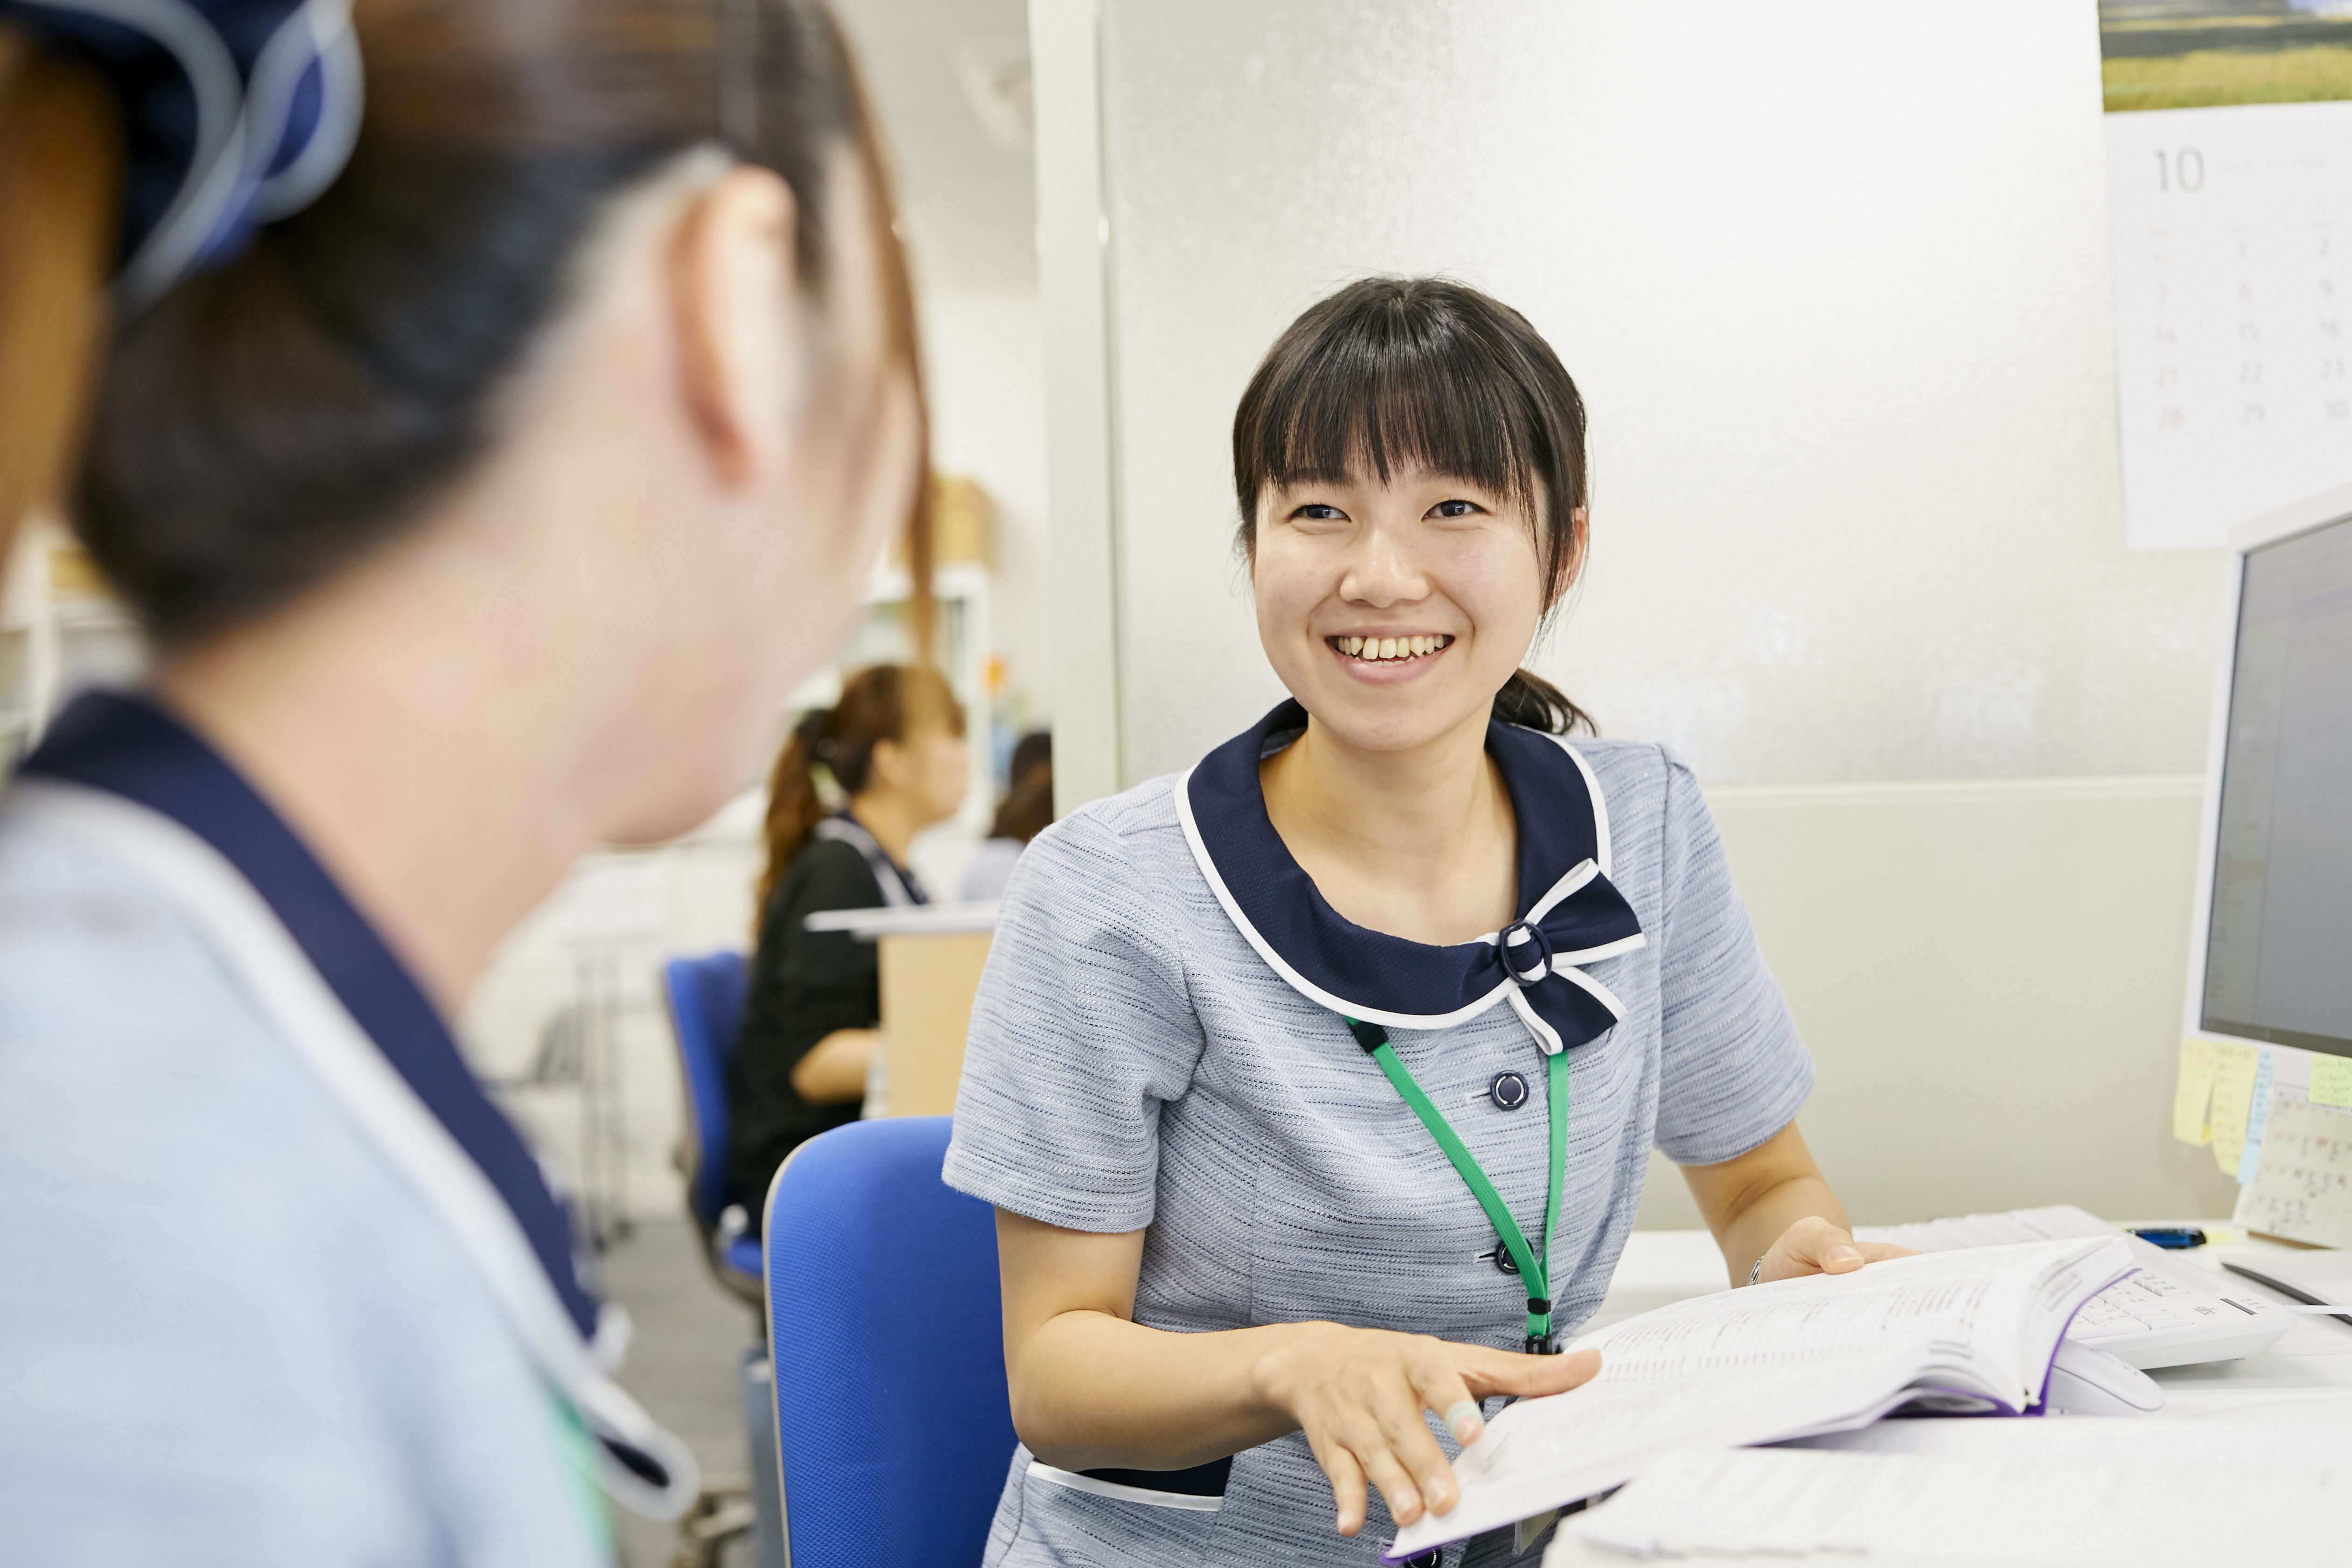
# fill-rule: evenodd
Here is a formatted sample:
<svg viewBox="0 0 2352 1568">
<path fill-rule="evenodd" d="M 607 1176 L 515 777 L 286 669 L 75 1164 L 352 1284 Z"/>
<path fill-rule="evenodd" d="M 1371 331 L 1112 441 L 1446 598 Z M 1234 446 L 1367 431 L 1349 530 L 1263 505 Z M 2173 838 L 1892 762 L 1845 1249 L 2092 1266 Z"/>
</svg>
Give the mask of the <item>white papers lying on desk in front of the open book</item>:
<svg viewBox="0 0 2352 1568">
<path fill-rule="evenodd" d="M 1682 1450 L 1562 1533 L 1632 1556 L 2211 1568 L 2340 1561 L 2347 1519 L 2340 1425 L 2065 1418 Z"/>
</svg>

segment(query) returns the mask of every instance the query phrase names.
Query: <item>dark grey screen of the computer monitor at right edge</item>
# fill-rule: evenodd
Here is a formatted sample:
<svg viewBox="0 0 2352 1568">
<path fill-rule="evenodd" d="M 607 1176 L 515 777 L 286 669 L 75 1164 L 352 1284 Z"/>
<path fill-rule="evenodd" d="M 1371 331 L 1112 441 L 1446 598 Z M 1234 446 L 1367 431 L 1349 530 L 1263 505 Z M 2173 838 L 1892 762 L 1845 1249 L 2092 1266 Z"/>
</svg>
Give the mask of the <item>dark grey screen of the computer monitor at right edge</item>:
<svg viewBox="0 0 2352 1568">
<path fill-rule="evenodd" d="M 2204 1027 L 2352 1056 L 2352 517 L 2246 555 Z"/>
</svg>

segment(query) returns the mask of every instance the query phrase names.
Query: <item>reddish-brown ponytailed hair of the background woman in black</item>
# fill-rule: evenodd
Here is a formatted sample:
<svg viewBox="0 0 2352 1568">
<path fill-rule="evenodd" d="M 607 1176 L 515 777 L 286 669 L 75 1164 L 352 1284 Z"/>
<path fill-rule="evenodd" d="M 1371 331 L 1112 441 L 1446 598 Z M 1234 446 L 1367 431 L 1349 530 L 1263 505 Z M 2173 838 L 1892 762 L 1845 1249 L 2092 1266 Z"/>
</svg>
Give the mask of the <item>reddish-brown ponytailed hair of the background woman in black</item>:
<svg viewBox="0 0 2352 1568">
<path fill-rule="evenodd" d="M 906 745 L 929 729 L 964 733 L 964 708 L 955 701 L 948 677 L 931 665 L 868 665 L 842 682 L 842 696 L 833 708 L 800 715 L 767 780 L 762 835 L 767 870 L 760 872 L 755 926 L 767 919 L 767 905 L 783 884 L 783 872 L 826 820 L 816 769 L 826 769 L 842 795 L 863 795 L 873 776 L 875 745 L 882 741 Z"/>
</svg>

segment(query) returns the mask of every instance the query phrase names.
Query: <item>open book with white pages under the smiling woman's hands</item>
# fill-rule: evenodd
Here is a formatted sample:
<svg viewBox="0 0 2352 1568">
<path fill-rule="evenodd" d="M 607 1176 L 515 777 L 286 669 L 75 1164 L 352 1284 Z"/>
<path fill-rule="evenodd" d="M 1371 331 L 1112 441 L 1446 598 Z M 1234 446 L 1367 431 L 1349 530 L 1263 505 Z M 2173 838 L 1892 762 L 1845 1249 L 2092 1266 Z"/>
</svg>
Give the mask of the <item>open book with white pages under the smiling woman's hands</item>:
<svg viewBox="0 0 2352 1568">
<path fill-rule="evenodd" d="M 1383 1561 L 1630 1481 L 1670 1448 L 1851 1432 L 1893 1410 L 2023 1415 L 2074 1312 L 2133 1269 L 2124 1237 L 2027 1241 L 1717 1291 L 1611 1324 L 1581 1389 L 1522 1399 L 1454 1462 L 1461 1502 Z"/>
</svg>

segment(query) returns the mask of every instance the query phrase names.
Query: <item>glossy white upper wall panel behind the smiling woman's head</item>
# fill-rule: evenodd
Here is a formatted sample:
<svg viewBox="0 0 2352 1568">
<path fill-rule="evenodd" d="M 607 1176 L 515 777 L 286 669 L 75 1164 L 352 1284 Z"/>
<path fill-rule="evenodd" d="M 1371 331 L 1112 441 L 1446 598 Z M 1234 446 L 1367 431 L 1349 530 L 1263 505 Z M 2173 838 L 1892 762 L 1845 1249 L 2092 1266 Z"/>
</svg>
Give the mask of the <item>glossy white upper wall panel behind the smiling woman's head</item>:
<svg viewBox="0 0 2352 1568">
<path fill-rule="evenodd" d="M 1103 0 L 1124 776 L 1279 696 L 1232 404 L 1367 270 L 1491 289 L 1585 390 L 1595 557 L 1541 668 L 1609 733 L 1708 783 L 2197 771 L 2220 574 L 2124 550 L 2096 28 Z"/>
</svg>

